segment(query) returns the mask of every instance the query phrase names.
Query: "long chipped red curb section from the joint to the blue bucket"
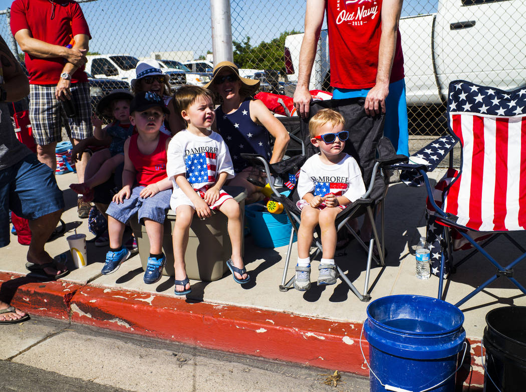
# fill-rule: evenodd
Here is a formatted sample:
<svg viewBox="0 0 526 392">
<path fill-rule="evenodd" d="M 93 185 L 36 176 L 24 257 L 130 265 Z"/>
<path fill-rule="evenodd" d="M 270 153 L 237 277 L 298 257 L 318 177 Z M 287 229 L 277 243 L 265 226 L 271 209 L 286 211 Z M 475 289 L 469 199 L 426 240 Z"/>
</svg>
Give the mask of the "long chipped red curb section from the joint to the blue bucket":
<svg viewBox="0 0 526 392">
<path fill-rule="evenodd" d="M 184 299 L 84 287 L 72 321 L 205 348 L 287 360 L 367 376 L 361 324 L 268 310 L 187 303 Z M 367 341 L 363 341 L 367 350 Z"/>
</svg>

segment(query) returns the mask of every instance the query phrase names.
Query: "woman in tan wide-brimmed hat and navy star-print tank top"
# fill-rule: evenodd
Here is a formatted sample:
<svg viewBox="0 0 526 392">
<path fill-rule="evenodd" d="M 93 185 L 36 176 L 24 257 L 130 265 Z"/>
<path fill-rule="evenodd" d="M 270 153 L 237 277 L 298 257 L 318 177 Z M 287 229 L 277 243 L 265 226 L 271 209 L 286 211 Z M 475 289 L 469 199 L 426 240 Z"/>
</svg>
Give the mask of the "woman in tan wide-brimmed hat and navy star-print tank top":
<svg viewBox="0 0 526 392">
<path fill-rule="evenodd" d="M 262 185 L 265 185 L 266 177 L 261 177 L 259 170 L 249 167 L 240 154 L 259 154 L 269 163 L 279 162 L 285 155 L 289 134 L 260 100 L 251 98 L 259 88 L 259 81 L 239 76 L 239 69 L 234 63 L 224 61 L 217 64 L 212 80 L 205 87 L 216 93 L 221 102 L 216 109 L 213 128 L 225 140 L 234 163 L 236 177 L 230 180 L 229 185 L 246 188 L 247 202 L 257 202 L 265 196 L 259 192 L 261 187 L 247 178 L 257 173 L 255 182 L 263 181 Z M 275 138 L 272 148 L 269 133 Z"/>
</svg>

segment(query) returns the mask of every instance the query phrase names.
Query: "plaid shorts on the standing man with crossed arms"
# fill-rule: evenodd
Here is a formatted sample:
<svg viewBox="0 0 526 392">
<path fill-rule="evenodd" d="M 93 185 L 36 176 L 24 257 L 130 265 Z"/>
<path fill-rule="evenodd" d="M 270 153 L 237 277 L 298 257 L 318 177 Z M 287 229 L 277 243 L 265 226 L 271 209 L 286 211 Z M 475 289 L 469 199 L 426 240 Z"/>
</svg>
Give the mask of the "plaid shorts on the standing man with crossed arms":
<svg viewBox="0 0 526 392">
<path fill-rule="evenodd" d="M 29 94 L 29 121 L 38 145 L 45 146 L 62 140 L 62 127 L 72 138 L 83 140 L 93 135 L 92 106 L 88 83 L 75 83 L 70 87 L 77 115 L 66 117 L 60 101 L 55 97 L 55 85 L 31 84 Z"/>
</svg>

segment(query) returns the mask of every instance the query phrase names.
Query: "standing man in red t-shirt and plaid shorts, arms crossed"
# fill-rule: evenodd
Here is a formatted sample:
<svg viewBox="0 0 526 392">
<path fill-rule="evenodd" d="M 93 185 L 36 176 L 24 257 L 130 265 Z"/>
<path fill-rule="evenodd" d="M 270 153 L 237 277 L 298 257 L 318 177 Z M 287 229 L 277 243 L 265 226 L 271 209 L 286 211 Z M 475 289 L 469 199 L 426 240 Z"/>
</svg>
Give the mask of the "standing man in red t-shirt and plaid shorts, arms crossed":
<svg viewBox="0 0 526 392">
<path fill-rule="evenodd" d="M 55 147 L 62 127 L 77 144 L 93 134 L 89 85 L 84 72 L 89 28 L 80 6 L 64 0 L 15 0 L 11 31 L 25 52 L 29 72 L 29 120 L 38 159 L 55 170 Z M 72 112 L 73 113 L 72 113 Z M 87 154 L 77 162 L 77 177 L 84 182 Z M 90 205 L 78 201 L 79 217 Z"/>
</svg>

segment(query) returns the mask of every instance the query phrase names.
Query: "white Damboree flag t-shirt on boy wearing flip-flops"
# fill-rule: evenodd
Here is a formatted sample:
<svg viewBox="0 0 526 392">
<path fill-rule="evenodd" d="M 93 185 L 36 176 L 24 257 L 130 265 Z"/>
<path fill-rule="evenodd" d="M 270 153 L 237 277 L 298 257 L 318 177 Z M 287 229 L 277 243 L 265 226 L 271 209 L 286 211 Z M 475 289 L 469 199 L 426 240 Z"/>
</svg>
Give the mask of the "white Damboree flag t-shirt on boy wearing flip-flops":
<svg viewBox="0 0 526 392">
<path fill-rule="evenodd" d="M 166 174 L 174 185 L 172 198 L 184 195 L 175 183 L 177 174 L 186 174 L 194 187 L 201 189 L 216 183 L 219 173 L 226 172 L 227 179 L 234 177 L 234 166 L 228 147 L 218 133 L 196 136 L 186 129 L 171 138 L 167 151 Z"/>
</svg>

